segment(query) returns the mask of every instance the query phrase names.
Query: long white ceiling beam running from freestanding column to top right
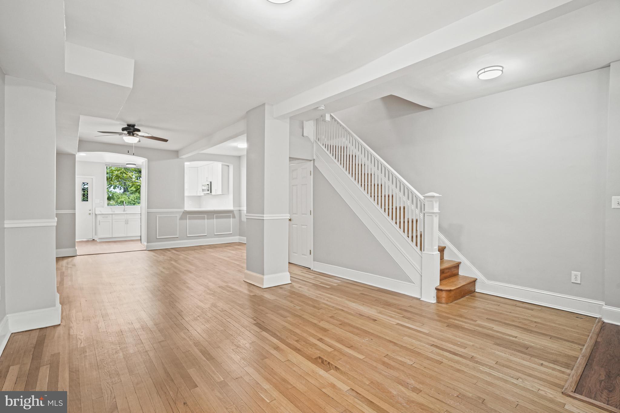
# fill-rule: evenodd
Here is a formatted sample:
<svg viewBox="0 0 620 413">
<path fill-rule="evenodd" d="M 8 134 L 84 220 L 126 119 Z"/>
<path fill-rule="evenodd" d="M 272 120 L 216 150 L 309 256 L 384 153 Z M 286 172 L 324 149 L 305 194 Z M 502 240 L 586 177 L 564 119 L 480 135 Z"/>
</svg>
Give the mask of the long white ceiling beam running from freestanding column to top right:
<svg viewBox="0 0 620 413">
<path fill-rule="evenodd" d="M 405 76 L 492 41 L 588 6 L 598 0 L 503 0 L 429 33 L 324 84 L 273 105 L 274 116 L 288 118 L 337 100 L 354 101 L 366 89 Z M 420 102 L 415 102 L 420 103 Z"/>
</svg>

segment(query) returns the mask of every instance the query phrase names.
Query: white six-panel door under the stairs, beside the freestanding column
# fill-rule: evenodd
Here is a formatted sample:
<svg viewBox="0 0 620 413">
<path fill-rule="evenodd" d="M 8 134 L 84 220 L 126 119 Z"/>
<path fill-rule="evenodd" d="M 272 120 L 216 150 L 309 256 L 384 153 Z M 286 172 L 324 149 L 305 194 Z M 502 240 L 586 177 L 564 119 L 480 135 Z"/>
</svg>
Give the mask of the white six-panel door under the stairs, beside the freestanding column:
<svg viewBox="0 0 620 413">
<path fill-rule="evenodd" d="M 288 261 L 312 267 L 312 162 L 288 167 Z"/>
</svg>

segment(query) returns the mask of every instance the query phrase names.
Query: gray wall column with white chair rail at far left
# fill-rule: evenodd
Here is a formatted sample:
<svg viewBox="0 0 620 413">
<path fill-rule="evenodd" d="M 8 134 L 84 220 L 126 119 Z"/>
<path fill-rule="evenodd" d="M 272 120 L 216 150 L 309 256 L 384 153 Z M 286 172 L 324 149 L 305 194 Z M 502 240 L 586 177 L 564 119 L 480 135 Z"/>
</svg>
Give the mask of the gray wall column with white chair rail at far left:
<svg viewBox="0 0 620 413">
<path fill-rule="evenodd" d="M 60 324 L 56 293 L 56 88 L 6 76 L 6 312 L 12 333 Z"/>
</svg>

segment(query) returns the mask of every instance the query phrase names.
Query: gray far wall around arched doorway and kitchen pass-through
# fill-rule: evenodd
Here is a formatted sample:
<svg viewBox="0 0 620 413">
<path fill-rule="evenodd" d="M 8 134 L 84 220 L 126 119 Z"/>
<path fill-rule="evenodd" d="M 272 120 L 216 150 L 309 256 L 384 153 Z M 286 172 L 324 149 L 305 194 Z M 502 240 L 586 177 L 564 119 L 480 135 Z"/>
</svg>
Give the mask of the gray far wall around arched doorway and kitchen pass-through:
<svg viewBox="0 0 620 413">
<path fill-rule="evenodd" d="M 126 154 L 129 146 L 104 144 L 100 142 L 79 141 L 79 152 L 112 152 L 117 154 Z M 226 214 L 226 212 L 181 212 L 185 208 L 185 162 L 193 160 L 213 160 L 218 162 L 230 163 L 233 168 L 233 207 L 241 205 L 241 180 L 239 173 L 240 159 L 238 156 L 214 155 L 214 154 L 196 154 L 187 158 L 179 158 L 179 154 L 175 150 L 149 149 L 144 147 L 136 147 L 136 156 L 147 159 L 147 195 L 146 207 L 148 211 L 154 209 L 175 209 L 177 212 L 147 212 L 147 243 L 164 243 L 170 241 L 186 241 L 201 240 L 206 238 L 226 238 L 236 237 L 239 235 L 239 211 L 232 212 L 232 234 L 215 235 L 213 233 L 213 215 Z M 81 171 L 78 162 L 78 172 Z M 89 174 L 84 174 L 89 175 Z M 99 186 L 95 184 L 95 186 Z M 105 195 L 105 191 L 104 191 Z M 179 215 L 179 237 L 175 238 L 157 238 L 156 225 L 157 215 Z M 208 215 L 207 225 L 208 232 L 206 237 L 187 237 L 187 215 Z M 211 229 L 209 229 L 211 228 Z"/>
</svg>

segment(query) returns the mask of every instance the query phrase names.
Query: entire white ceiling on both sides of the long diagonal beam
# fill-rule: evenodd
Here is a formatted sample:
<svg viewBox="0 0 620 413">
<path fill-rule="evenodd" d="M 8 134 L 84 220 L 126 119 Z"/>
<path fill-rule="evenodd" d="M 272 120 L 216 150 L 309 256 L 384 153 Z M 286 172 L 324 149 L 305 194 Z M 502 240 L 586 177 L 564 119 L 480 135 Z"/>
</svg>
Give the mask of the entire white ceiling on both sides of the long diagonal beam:
<svg viewBox="0 0 620 413">
<path fill-rule="evenodd" d="M 59 152 L 75 153 L 78 136 L 125 144 L 95 134 L 126 123 L 169 139 L 138 146 L 178 150 L 260 103 L 308 90 L 497 2 L 0 0 L 0 67 L 56 85 Z M 620 59 L 619 21 L 620 2 L 601 0 L 422 65 L 368 100 L 406 97 L 394 90 L 399 85 L 415 91 L 414 102 L 436 107 L 606 66 Z M 134 59 L 133 87 L 65 72 L 65 41 Z M 505 66 L 503 76 L 477 79 L 491 64 Z M 236 149 L 226 143 L 208 153 Z"/>
</svg>

